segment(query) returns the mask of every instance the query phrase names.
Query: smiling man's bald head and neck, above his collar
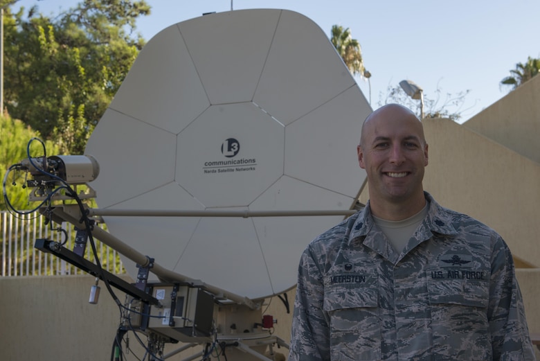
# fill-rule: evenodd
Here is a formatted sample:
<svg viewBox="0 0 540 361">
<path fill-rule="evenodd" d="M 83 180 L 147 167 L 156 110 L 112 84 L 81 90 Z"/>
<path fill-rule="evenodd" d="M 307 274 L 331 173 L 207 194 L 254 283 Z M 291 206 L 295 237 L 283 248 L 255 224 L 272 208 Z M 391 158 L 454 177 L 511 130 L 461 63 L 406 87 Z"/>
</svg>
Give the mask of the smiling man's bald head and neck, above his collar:
<svg viewBox="0 0 540 361">
<path fill-rule="evenodd" d="M 428 146 L 422 123 L 411 110 L 391 104 L 370 114 L 357 151 L 360 167 L 368 173 L 373 214 L 380 216 L 391 207 L 405 219 L 422 209 Z"/>
</svg>

